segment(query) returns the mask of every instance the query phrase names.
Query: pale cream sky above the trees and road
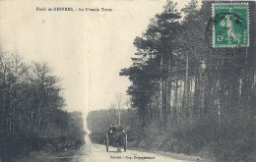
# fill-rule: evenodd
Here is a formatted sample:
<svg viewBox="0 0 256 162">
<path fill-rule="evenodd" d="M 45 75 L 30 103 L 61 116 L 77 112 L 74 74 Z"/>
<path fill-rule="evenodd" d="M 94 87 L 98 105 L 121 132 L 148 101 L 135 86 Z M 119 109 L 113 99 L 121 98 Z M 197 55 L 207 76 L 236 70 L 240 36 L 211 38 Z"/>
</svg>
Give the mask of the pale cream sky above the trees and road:
<svg viewBox="0 0 256 162">
<path fill-rule="evenodd" d="M 126 96 L 128 68 L 140 36 L 165 0 L 0 0 L 0 44 L 24 60 L 48 62 L 62 79 L 68 111 L 109 108 L 115 94 Z M 178 3 L 178 8 L 183 4 Z M 107 8 L 111 12 L 36 11 L 54 7 Z"/>
</svg>

